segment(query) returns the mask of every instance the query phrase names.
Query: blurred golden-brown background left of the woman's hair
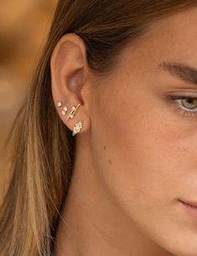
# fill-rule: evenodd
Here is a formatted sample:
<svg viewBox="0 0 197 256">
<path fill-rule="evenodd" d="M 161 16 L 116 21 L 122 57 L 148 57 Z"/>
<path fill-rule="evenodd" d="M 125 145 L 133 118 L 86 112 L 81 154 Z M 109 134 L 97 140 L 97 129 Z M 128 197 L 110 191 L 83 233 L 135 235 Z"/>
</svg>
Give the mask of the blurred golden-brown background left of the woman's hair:
<svg viewBox="0 0 197 256">
<path fill-rule="evenodd" d="M 0 154 L 25 89 L 29 86 L 57 1 L 0 2 Z"/>
</svg>

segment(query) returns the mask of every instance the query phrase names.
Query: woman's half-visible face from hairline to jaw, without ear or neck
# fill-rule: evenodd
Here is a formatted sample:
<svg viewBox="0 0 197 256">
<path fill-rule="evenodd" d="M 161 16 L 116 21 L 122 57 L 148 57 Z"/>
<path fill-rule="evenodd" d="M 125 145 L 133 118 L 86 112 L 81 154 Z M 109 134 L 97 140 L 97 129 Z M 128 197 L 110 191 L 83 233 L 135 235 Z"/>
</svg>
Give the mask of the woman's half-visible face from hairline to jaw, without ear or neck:
<svg viewBox="0 0 197 256">
<path fill-rule="evenodd" d="M 153 24 L 99 82 L 91 136 L 101 179 L 150 238 L 196 255 L 197 217 L 179 200 L 197 202 L 197 100 L 187 98 L 197 98 L 197 9 Z"/>
</svg>

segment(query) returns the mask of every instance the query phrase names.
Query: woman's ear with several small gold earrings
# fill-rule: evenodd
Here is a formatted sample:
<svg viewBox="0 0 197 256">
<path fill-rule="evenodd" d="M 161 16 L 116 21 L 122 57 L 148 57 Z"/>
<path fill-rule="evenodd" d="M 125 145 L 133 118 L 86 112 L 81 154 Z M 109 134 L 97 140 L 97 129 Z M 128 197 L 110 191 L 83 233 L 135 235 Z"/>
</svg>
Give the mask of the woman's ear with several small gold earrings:
<svg viewBox="0 0 197 256">
<path fill-rule="evenodd" d="M 54 104 L 60 118 L 72 131 L 81 121 L 81 133 L 85 132 L 91 125 L 88 110 L 91 83 L 86 46 L 80 36 L 70 33 L 59 40 L 51 56 L 50 71 Z"/>
</svg>

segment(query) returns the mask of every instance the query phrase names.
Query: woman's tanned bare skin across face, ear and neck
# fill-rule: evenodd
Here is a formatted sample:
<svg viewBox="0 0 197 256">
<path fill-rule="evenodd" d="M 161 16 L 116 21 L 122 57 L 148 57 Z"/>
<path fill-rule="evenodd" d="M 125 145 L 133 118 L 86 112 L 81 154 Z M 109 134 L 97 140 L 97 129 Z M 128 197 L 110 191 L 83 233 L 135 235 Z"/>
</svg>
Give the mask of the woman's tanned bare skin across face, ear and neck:
<svg viewBox="0 0 197 256">
<path fill-rule="evenodd" d="M 197 255 L 197 221 L 178 201 L 197 201 L 197 103 L 186 116 L 166 97 L 197 97 L 197 86 L 158 68 L 197 68 L 196 45 L 197 8 L 155 22 L 107 77 L 88 69 L 77 35 L 60 39 L 51 58 L 54 104 L 65 126 L 83 120 L 84 128 L 75 135 L 55 256 Z M 74 119 L 65 122 L 59 101 L 69 110 L 82 102 Z"/>
</svg>

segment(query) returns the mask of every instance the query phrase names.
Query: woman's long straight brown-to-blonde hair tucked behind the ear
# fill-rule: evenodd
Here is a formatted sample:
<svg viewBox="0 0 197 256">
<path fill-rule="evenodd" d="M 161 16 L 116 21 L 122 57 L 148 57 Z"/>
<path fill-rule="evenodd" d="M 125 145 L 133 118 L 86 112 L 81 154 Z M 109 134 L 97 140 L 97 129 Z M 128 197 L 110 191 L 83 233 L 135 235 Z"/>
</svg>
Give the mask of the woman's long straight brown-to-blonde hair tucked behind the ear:
<svg viewBox="0 0 197 256">
<path fill-rule="evenodd" d="M 51 255 L 60 209 L 69 189 L 75 137 L 55 111 L 50 58 L 67 33 L 86 44 L 92 72 L 112 72 L 117 57 L 158 18 L 196 5 L 195 0 L 60 0 L 31 86 L 5 142 L 8 189 L 0 209 L 1 256 Z M 5 178 L 6 180 L 6 178 Z"/>
</svg>

